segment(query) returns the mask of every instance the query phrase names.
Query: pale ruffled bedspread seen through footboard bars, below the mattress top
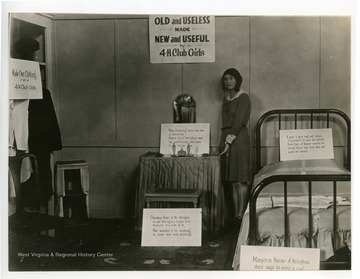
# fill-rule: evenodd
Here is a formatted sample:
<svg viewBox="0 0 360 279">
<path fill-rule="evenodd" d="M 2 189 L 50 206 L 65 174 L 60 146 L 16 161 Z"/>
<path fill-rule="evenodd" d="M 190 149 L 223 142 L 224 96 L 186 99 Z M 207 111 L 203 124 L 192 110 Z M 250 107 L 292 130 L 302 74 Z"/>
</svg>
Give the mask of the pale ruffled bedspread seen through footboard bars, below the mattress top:
<svg viewBox="0 0 360 279">
<path fill-rule="evenodd" d="M 272 207 L 268 198 L 260 198 L 257 206 L 257 236 L 256 245 L 285 246 L 284 208 Z M 344 205 L 337 207 L 336 250 L 344 246 L 351 247 L 351 207 Z M 320 260 L 326 260 L 334 255 L 332 247 L 333 207 L 313 208 L 312 247 L 320 248 Z M 309 227 L 308 209 L 304 207 L 288 207 L 289 241 L 290 247 L 308 247 Z M 235 249 L 233 268 L 239 269 L 241 245 L 248 245 L 249 214 L 245 213 Z"/>
</svg>

